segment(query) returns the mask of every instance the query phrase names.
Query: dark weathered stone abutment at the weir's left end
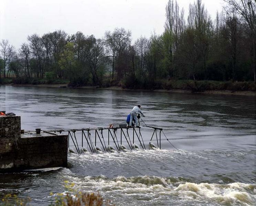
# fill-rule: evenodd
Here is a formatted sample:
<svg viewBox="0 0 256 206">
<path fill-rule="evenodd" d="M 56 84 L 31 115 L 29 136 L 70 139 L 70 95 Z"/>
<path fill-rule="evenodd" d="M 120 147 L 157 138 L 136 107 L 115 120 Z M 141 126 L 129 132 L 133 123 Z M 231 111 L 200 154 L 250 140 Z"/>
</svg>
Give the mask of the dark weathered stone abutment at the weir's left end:
<svg viewBox="0 0 256 206">
<path fill-rule="evenodd" d="M 21 137 L 20 116 L 0 116 L 0 172 L 67 167 L 67 135 Z"/>
</svg>

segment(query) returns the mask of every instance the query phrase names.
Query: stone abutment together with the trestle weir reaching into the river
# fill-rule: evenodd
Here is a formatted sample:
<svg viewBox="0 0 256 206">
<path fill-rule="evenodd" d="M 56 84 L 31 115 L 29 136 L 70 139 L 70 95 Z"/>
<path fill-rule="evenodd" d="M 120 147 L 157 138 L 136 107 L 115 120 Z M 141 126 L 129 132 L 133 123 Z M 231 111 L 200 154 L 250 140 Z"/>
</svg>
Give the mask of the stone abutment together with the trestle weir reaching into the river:
<svg viewBox="0 0 256 206">
<path fill-rule="evenodd" d="M 161 149 L 163 129 L 146 124 L 143 127 L 153 129 L 149 147 Z M 157 146 L 152 144 L 152 140 L 156 140 Z M 71 146 L 75 147 L 79 155 L 81 151 L 99 153 L 140 148 L 146 150 L 141 127 L 111 125 L 48 131 L 37 128 L 34 131 L 24 131 L 21 130 L 20 116 L 0 116 L 0 172 L 66 167 L 67 151 L 71 152 Z"/>
</svg>

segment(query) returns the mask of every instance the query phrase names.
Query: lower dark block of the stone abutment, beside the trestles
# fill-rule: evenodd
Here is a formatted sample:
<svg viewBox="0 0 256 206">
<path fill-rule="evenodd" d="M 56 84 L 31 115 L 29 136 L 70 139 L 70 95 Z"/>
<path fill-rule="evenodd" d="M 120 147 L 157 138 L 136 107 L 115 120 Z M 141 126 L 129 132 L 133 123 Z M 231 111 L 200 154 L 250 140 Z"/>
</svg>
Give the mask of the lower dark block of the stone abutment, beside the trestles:
<svg viewBox="0 0 256 206">
<path fill-rule="evenodd" d="M 15 168 L 67 167 L 67 144 L 67 135 L 20 138 Z"/>
</svg>

